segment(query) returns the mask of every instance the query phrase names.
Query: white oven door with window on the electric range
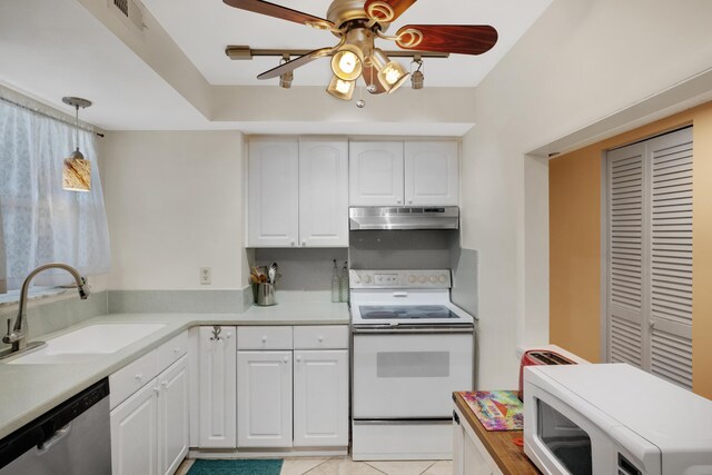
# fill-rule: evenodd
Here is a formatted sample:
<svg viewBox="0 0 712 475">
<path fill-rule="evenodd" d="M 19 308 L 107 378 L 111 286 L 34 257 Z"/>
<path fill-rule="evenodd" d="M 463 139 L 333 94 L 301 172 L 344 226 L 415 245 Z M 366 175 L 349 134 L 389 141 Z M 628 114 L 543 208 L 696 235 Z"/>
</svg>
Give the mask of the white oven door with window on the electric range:
<svg viewBox="0 0 712 475">
<path fill-rule="evenodd" d="M 354 419 L 452 417 L 473 387 L 471 328 L 354 330 Z"/>
</svg>

